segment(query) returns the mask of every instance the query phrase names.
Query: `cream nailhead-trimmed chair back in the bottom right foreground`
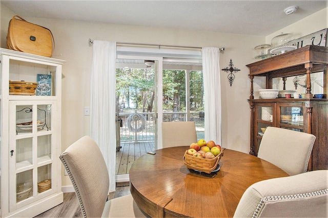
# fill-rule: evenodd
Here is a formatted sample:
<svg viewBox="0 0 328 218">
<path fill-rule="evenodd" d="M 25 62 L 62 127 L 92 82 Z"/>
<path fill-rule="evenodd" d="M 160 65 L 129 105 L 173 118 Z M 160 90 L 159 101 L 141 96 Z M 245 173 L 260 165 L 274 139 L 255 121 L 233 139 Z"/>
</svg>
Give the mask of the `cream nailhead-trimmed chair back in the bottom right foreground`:
<svg viewBox="0 0 328 218">
<path fill-rule="evenodd" d="M 328 171 L 254 183 L 243 193 L 234 217 L 328 217 Z"/>
</svg>

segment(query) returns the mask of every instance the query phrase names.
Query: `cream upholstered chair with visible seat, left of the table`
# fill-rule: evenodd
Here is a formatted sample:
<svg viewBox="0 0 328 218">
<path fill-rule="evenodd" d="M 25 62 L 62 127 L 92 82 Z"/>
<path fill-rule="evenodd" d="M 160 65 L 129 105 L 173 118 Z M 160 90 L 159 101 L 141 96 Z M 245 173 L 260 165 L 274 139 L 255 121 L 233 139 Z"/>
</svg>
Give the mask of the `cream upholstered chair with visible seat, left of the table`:
<svg viewBox="0 0 328 218">
<path fill-rule="evenodd" d="M 91 137 L 80 138 L 59 158 L 71 179 L 84 217 L 147 217 L 131 195 L 107 201 L 108 170 Z"/>
</svg>

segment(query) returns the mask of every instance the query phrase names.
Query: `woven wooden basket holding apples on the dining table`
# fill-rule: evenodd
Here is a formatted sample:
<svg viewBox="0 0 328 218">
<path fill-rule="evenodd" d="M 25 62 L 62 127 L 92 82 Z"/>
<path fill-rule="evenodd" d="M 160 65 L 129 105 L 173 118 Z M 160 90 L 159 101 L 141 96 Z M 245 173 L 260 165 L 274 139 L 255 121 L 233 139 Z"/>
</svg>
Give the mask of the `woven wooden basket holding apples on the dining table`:
<svg viewBox="0 0 328 218">
<path fill-rule="evenodd" d="M 214 171 L 221 157 L 223 156 L 223 150 L 224 148 L 222 148 L 221 152 L 215 158 L 212 159 L 199 158 L 189 155 L 187 154 L 187 150 L 185 152 L 185 155 L 183 155 L 183 162 L 189 169 L 196 169 L 197 171 L 210 174 L 212 171 Z"/>
</svg>

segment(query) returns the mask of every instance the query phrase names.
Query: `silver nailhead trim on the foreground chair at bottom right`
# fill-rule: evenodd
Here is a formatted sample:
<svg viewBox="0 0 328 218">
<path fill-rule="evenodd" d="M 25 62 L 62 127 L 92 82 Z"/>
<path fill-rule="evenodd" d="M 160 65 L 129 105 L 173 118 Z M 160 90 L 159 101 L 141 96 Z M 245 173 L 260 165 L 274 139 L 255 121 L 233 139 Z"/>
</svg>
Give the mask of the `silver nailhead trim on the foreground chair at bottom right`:
<svg viewBox="0 0 328 218">
<path fill-rule="evenodd" d="M 284 199 L 296 199 L 296 198 L 308 198 L 312 196 L 319 196 L 319 195 L 325 195 L 328 194 L 328 188 L 311 192 L 311 193 L 302 193 L 297 195 L 289 195 L 289 196 L 268 196 L 261 199 L 256 206 L 256 209 L 252 215 L 253 218 L 256 218 L 258 213 L 261 211 L 261 206 L 265 204 L 265 201 L 273 201 L 273 200 L 284 200 Z"/>
</svg>

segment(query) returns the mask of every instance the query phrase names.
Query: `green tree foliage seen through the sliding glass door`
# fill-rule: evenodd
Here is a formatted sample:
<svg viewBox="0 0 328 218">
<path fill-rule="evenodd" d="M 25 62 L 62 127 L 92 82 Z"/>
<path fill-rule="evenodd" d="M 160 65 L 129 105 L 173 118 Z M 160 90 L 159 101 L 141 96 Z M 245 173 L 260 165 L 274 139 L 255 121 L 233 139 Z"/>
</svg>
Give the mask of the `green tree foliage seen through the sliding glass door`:
<svg viewBox="0 0 328 218">
<path fill-rule="evenodd" d="M 116 105 L 119 112 L 137 109 L 152 112 L 154 106 L 153 69 L 116 69 Z M 187 83 L 188 84 L 188 83 Z M 163 70 L 163 111 L 186 111 L 186 71 Z M 176 110 L 174 110 L 176 109 Z M 202 71 L 190 72 L 190 109 L 203 110 Z"/>
</svg>

